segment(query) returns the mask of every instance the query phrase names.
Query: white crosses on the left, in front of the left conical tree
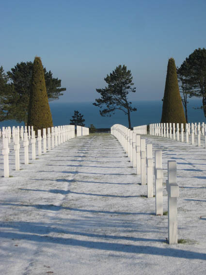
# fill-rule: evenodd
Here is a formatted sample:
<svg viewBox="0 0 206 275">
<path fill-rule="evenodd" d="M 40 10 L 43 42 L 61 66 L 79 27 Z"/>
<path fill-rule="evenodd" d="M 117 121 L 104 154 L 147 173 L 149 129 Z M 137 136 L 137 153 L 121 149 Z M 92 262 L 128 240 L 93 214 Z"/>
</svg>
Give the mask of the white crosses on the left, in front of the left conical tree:
<svg viewBox="0 0 206 275">
<path fill-rule="evenodd" d="M 4 177 L 9 177 L 9 137 L 6 134 L 9 131 L 6 131 L 7 129 L 2 129 L 3 132 L 3 149 L 2 149 L 2 155 L 4 160 Z M 5 134 L 4 134 L 5 132 Z M 14 141 L 14 150 L 15 150 L 15 167 L 16 170 L 20 170 L 19 165 L 19 139 L 21 137 L 21 131 L 19 131 L 19 128 L 16 128 L 16 131 L 12 131 L 13 133 L 13 141 Z M 51 150 L 51 148 L 54 148 L 55 146 L 58 146 L 62 143 L 64 143 L 67 140 L 70 140 L 75 137 L 75 126 L 74 125 L 65 125 L 65 126 L 58 126 L 58 127 L 51 127 L 48 129 L 43 129 L 43 136 L 41 136 L 41 130 L 38 130 L 38 136 L 35 137 L 35 131 L 33 128 L 31 128 L 31 133 L 28 135 L 28 132 L 24 131 L 23 135 L 23 146 L 24 146 L 24 164 L 29 164 L 29 138 L 31 137 L 31 144 L 32 144 L 32 160 L 36 159 L 36 140 L 38 141 L 38 155 L 40 156 L 42 154 L 42 139 L 43 139 L 43 153 L 47 152 L 48 150 Z M 22 137 L 21 137 L 22 138 Z M 11 143 L 11 138 L 10 138 Z"/>
</svg>

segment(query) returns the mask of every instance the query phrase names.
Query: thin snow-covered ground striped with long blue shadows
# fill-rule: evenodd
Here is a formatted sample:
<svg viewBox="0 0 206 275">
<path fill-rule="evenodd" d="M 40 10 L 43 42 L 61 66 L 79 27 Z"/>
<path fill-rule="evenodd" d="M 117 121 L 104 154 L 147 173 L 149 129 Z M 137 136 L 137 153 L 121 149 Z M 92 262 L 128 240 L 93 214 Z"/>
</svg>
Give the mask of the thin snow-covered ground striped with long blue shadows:
<svg viewBox="0 0 206 275">
<path fill-rule="evenodd" d="M 93 134 L 20 171 L 11 149 L 10 178 L 2 177 L 0 155 L 0 275 L 205 274 L 206 149 L 142 138 L 163 151 L 163 211 L 167 161 L 177 162 L 178 239 L 186 243 L 166 242 L 168 217 L 154 214 L 155 198 L 143 196 L 146 186 L 118 141 Z"/>
</svg>

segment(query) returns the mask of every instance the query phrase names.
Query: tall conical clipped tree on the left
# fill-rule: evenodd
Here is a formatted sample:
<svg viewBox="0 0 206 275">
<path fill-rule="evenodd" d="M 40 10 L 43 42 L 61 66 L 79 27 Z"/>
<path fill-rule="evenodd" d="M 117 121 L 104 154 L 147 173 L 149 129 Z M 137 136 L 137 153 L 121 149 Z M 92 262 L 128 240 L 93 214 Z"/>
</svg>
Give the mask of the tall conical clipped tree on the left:
<svg viewBox="0 0 206 275">
<path fill-rule="evenodd" d="M 35 57 L 33 62 L 28 125 L 35 131 L 53 126 L 40 57 Z"/>
</svg>

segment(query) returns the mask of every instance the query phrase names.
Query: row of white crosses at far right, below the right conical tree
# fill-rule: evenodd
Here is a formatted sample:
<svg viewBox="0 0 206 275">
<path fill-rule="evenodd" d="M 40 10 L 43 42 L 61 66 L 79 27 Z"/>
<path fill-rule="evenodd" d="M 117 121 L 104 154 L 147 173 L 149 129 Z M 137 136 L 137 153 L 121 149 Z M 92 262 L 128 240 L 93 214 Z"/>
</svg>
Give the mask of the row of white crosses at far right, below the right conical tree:
<svg viewBox="0 0 206 275">
<path fill-rule="evenodd" d="M 197 136 L 197 145 L 201 146 L 201 135 L 205 136 L 205 148 L 206 148 L 206 124 L 203 122 L 197 123 L 186 123 L 185 125 L 181 123 L 181 128 L 179 128 L 179 123 L 155 123 L 149 125 L 149 134 L 161 137 L 171 138 L 177 141 L 189 143 L 193 145 L 195 136 Z M 184 136 L 185 132 L 185 136 Z"/>
</svg>

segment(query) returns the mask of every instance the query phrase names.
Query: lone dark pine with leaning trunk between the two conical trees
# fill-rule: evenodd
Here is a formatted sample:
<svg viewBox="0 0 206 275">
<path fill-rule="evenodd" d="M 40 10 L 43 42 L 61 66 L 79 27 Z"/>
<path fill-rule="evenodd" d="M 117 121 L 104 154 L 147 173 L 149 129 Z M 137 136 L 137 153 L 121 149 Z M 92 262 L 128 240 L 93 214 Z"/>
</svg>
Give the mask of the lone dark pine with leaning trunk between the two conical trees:
<svg viewBox="0 0 206 275">
<path fill-rule="evenodd" d="M 100 108 L 99 113 L 102 116 L 111 116 L 115 110 L 123 111 L 128 116 L 128 126 L 131 129 L 130 112 L 137 111 L 136 108 L 131 107 L 131 102 L 127 98 L 129 92 L 136 92 L 136 88 L 132 87 L 134 83 L 132 83 L 131 71 L 127 70 L 127 66 L 119 65 L 104 80 L 108 87 L 96 89 L 101 98 L 95 99 L 93 104 Z M 102 108 L 104 109 L 101 110 Z"/>
</svg>

